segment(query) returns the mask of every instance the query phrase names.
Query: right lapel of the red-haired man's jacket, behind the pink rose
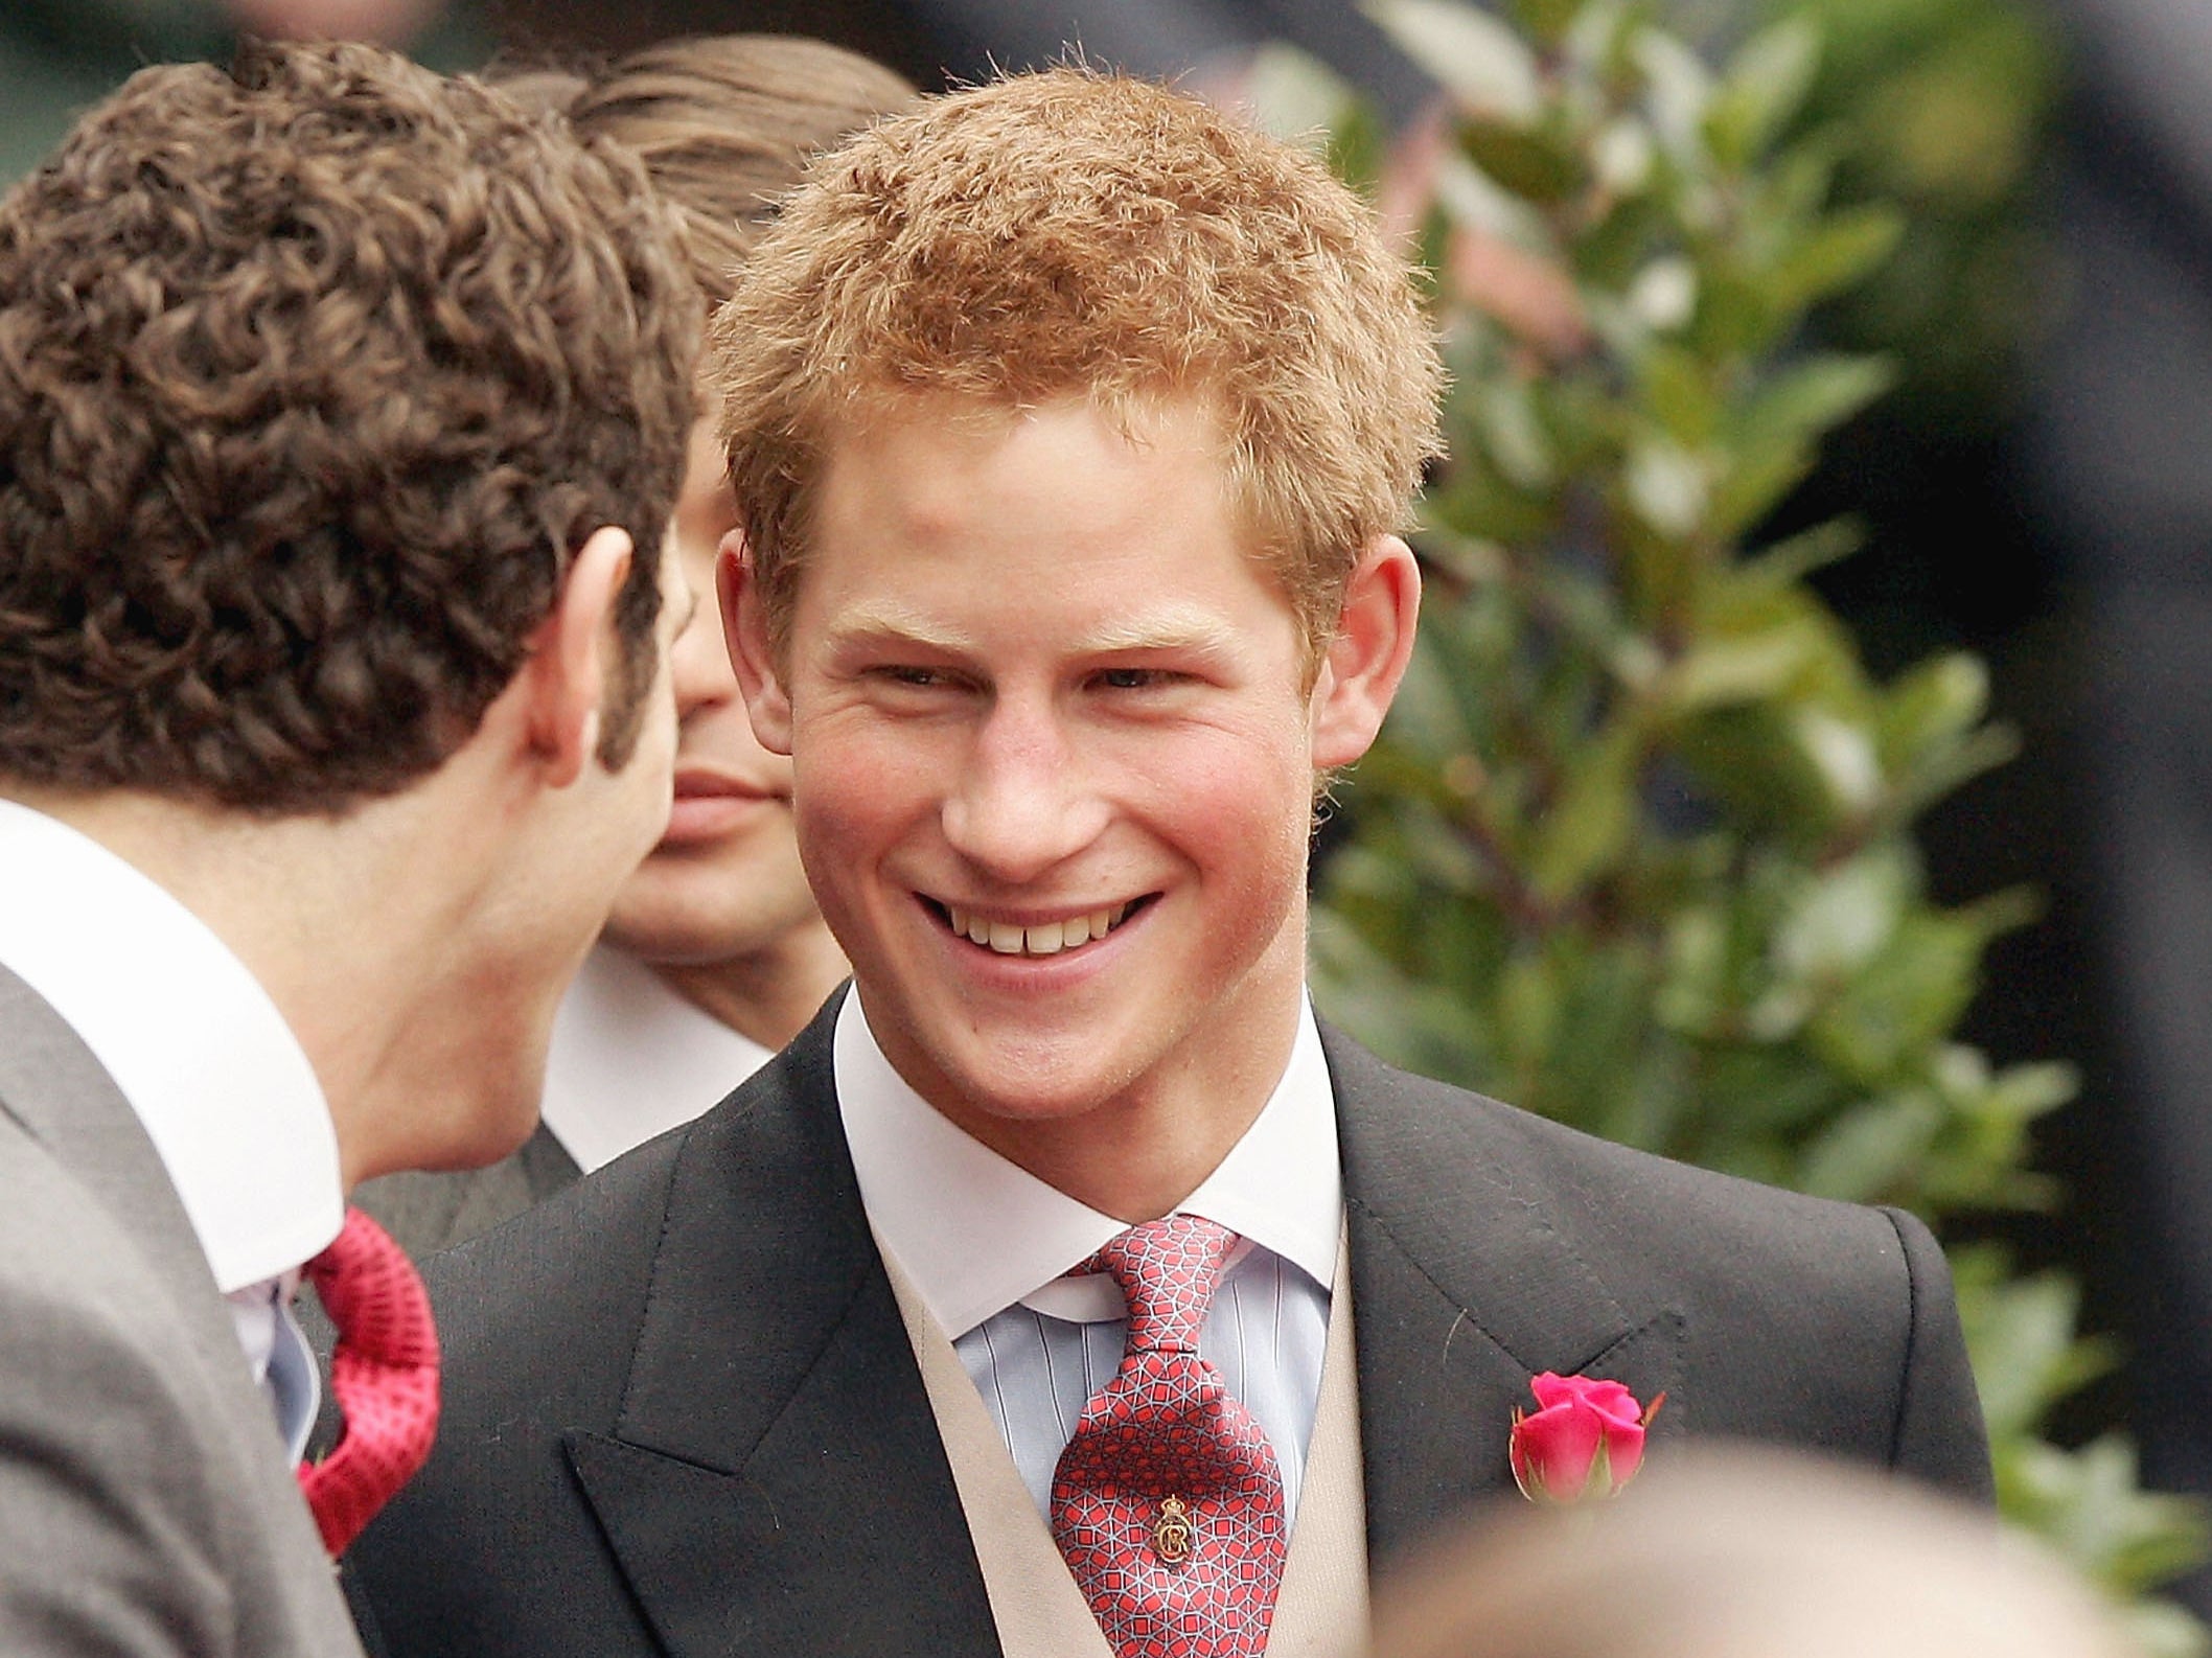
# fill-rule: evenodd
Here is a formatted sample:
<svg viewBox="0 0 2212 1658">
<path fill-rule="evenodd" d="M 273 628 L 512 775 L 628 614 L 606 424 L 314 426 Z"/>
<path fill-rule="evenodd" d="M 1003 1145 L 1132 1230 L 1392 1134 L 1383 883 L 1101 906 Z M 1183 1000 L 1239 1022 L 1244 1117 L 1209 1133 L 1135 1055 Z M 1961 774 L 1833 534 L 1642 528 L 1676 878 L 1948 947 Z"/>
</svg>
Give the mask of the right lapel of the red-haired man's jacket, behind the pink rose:
<svg viewBox="0 0 2212 1658">
<path fill-rule="evenodd" d="M 1387 1570 L 1511 1490 L 1513 1410 L 1537 1371 L 1604 1375 L 1650 1402 L 1681 1320 L 1624 1307 L 1513 1156 L 1504 1108 L 1396 1072 L 1323 1028 L 1336 1088 L 1358 1309 L 1367 1552 Z M 1666 1419 L 1661 1417 L 1661 1433 Z"/>
</svg>

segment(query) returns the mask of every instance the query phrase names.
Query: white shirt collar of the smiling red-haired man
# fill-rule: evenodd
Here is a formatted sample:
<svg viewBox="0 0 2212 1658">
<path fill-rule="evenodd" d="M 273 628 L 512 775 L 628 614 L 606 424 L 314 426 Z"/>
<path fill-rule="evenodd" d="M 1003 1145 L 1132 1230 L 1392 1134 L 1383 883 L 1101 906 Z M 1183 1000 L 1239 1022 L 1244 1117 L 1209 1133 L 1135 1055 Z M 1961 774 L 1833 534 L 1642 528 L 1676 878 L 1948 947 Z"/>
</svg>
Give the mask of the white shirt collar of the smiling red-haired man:
<svg viewBox="0 0 2212 1658">
<path fill-rule="evenodd" d="M 838 1008 L 836 1096 L 867 1220 L 947 1335 L 960 1337 L 1015 1302 L 1057 1318 L 1121 1315 L 1110 1280 L 1055 1280 L 1126 1222 L 940 1116 L 883 1057 L 858 990 Z M 1303 997 L 1274 1094 L 1221 1167 L 1177 1207 L 1272 1249 L 1334 1291 L 1345 1211 L 1336 1094 Z M 1099 1291 L 1110 1307 L 1097 1304 Z"/>
</svg>

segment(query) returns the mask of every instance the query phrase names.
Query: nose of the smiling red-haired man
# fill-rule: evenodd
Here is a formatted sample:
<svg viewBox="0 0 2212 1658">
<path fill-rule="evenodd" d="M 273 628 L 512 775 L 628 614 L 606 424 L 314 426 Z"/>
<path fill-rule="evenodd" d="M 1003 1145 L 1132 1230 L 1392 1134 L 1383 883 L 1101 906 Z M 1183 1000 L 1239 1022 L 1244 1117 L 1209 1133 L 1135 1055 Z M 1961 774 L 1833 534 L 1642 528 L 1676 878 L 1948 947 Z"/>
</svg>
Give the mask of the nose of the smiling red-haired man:
<svg viewBox="0 0 2212 1658">
<path fill-rule="evenodd" d="M 1029 882 L 1106 829 L 1106 800 L 1051 707 L 998 701 L 945 798 L 945 838 L 1000 882 Z"/>
</svg>

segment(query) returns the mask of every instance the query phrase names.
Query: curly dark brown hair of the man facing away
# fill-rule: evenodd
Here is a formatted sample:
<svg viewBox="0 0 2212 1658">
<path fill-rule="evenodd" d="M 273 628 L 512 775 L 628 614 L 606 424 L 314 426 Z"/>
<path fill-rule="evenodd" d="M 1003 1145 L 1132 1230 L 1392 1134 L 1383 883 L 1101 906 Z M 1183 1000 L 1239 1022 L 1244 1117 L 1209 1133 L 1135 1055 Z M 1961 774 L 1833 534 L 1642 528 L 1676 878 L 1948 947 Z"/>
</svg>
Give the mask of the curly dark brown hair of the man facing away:
<svg viewBox="0 0 2212 1658">
<path fill-rule="evenodd" d="M 482 84 L 358 44 L 135 75 L 0 203 L 0 776 L 398 791 L 604 524 L 622 765 L 699 309 L 639 164 Z"/>
</svg>

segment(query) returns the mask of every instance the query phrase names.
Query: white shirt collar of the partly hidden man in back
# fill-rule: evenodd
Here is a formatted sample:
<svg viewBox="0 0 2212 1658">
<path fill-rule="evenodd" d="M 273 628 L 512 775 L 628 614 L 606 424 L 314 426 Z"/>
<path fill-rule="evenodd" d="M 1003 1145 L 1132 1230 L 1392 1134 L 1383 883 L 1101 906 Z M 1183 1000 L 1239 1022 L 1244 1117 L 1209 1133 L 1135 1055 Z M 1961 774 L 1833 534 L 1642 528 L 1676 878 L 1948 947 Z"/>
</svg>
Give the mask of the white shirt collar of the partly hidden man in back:
<svg viewBox="0 0 2212 1658">
<path fill-rule="evenodd" d="M 546 1127 L 591 1174 L 692 1121 L 768 1059 L 635 955 L 602 944 L 553 1017 Z"/>
</svg>

